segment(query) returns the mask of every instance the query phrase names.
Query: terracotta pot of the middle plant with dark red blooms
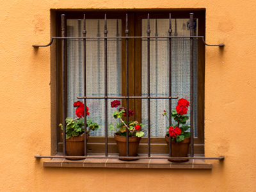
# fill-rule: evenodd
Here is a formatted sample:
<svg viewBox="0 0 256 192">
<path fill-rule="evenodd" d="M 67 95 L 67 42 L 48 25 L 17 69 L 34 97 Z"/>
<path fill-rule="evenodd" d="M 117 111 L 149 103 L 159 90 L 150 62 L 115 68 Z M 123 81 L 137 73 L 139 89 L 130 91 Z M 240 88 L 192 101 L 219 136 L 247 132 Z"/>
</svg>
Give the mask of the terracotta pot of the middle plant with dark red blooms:
<svg viewBox="0 0 256 192">
<path fill-rule="evenodd" d="M 118 147 L 119 156 L 126 156 L 126 137 L 125 136 L 118 136 L 115 133 L 115 140 Z M 141 138 L 138 138 L 136 136 L 129 137 L 129 156 L 136 157 L 138 156 L 138 147 L 140 144 Z M 119 158 L 120 160 L 124 161 L 134 161 L 137 159 L 124 159 Z"/>
</svg>

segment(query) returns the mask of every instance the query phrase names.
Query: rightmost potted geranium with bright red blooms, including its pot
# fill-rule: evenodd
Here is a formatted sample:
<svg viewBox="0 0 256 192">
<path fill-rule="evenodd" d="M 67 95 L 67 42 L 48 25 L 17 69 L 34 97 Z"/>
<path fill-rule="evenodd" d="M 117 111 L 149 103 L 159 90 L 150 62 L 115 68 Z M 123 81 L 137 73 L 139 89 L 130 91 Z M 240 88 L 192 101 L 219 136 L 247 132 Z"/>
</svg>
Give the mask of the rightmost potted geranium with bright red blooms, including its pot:
<svg viewBox="0 0 256 192">
<path fill-rule="evenodd" d="M 189 145 L 190 145 L 190 132 L 188 129 L 190 126 L 186 125 L 189 117 L 186 115 L 188 112 L 189 102 L 186 99 L 179 99 L 178 104 L 172 111 L 172 118 L 174 118 L 176 124 L 168 127 L 166 132 L 165 140 L 170 150 L 170 136 L 172 140 L 172 157 L 186 157 L 188 155 Z M 163 116 L 167 116 L 164 110 Z M 169 118 L 168 118 L 169 120 Z M 169 158 L 168 161 L 172 162 L 186 162 L 188 159 L 172 159 Z"/>
</svg>

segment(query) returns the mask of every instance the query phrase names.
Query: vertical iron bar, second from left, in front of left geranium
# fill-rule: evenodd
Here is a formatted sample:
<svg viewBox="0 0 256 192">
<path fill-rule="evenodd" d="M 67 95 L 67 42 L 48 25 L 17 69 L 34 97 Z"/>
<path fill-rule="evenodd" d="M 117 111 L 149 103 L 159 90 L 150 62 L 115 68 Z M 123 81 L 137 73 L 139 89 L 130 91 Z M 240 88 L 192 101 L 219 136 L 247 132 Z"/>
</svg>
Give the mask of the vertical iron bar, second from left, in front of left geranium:
<svg viewBox="0 0 256 192">
<path fill-rule="evenodd" d="M 86 36 L 86 24 L 85 24 L 85 14 L 84 14 L 84 29 L 83 29 L 83 36 Z M 84 48 L 84 97 L 86 97 L 86 39 L 83 39 L 83 48 Z M 87 127 L 86 127 L 86 106 L 87 102 L 84 99 L 84 156 L 87 156 Z"/>
</svg>

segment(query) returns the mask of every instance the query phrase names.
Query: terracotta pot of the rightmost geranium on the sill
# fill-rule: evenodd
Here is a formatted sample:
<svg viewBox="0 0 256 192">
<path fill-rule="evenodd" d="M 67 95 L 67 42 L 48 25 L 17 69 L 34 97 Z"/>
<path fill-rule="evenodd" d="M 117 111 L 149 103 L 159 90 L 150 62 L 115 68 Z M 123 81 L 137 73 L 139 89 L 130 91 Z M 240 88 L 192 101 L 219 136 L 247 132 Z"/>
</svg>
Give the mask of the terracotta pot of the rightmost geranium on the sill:
<svg viewBox="0 0 256 192">
<path fill-rule="evenodd" d="M 169 145 L 169 137 L 165 135 L 165 141 L 168 145 L 168 148 L 170 150 L 170 145 Z M 188 156 L 188 150 L 189 150 L 189 145 L 190 145 L 190 138 L 185 138 L 183 141 L 180 141 L 178 143 L 175 143 L 175 141 L 172 141 L 172 157 L 187 157 Z M 189 159 L 172 159 L 169 158 L 168 161 L 172 162 L 186 162 Z"/>
</svg>

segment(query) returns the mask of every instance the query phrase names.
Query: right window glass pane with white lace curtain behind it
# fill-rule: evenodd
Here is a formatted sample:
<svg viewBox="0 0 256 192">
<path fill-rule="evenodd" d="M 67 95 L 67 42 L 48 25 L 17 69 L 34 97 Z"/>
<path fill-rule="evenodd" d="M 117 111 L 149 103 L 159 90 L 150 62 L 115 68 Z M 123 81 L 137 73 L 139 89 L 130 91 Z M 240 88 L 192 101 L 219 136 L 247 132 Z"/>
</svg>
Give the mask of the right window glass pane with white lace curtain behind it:
<svg viewBox="0 0 256 192">
<path fill-rule="evenodd" d="M 189 36 L 187 27 L 189 19 L 172 19 L 173 36 Z M 195 20 L 197 23 L 197 20 Z M 169 19 L 150 19 L 150 36 L 168 36 Z M 197 35 L 197 28 L 194 35 Z M 147 36 L 147 19 L 142 19 L 142 36 Z M 172 38 L 172 96 L 190 102 L 190 40 L 189 38 Z M 142 40 L 142 95 L 147 96 L 147 40 Z M 150 40 L 150 95 L 168 96 L 169 94 L 169 56 L 168 39 Z M 197 40 L 194 39 L 194 127 L 197 136 Z M 172 109 L 178 99 L 172 99 Z M 162 116 L 163 110 L 169 111 L 167 99 L 150 101 L 150 134 L 153 137 L 164 136 L 168 120 Z M 147 127 L 147 100 L 142 100 L 142 122 Z M 190 109 L 188 111 L 190 125 Z M 174 120 L 172 120 L 174 122 Z"/>
</svg>

